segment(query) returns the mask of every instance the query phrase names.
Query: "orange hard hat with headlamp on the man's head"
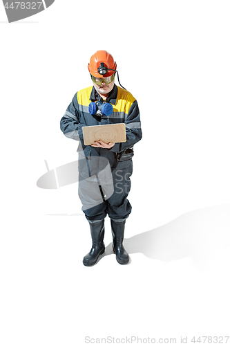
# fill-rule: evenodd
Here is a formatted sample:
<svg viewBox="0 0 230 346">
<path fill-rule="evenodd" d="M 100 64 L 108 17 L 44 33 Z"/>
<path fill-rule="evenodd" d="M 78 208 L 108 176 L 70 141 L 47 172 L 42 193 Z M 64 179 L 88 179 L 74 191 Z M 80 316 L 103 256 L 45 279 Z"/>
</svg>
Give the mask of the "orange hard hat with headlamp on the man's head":
<svg viewBox="0 0 230 346">
<path fill-rule="evenodd" d="M 108 69 L 107 73 L 103 75 L 98 72 L 101 63 L 103 63 L 106 69 Z M 88 71 L 90 75 L 93 75 L 97 78 L 109 77 L 110 75 L 113 75 L 113 73 L 115 73 L 115 71 L 110 71 L 109 69 L 117 69 L 117 64 L 113 60 L 112 55 L 107 51 L 97 51 L 92 55 L 92 57 L 90 57 L 90 62 L 88 64 Z"/>
</svg>

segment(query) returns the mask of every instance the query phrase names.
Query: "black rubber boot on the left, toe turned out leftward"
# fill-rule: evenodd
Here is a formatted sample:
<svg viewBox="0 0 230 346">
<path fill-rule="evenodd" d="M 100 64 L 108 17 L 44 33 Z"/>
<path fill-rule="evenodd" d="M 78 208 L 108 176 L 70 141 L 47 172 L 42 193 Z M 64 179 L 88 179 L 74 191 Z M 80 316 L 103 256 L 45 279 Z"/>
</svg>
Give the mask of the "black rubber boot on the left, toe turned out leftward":
<svg viewBox="0 0 230 346">
<path fill-rule="evenodd" d="M 92 237 L 92 248 L 83 259 L 84 266 L 93 266 L 93 264 L 96 264 L 99 259 L 99 255 L 102 255 L 102 253 L 105 251 L 103 242 L 104 220 L 90 224 L 90 232 Z"/>
</svg>

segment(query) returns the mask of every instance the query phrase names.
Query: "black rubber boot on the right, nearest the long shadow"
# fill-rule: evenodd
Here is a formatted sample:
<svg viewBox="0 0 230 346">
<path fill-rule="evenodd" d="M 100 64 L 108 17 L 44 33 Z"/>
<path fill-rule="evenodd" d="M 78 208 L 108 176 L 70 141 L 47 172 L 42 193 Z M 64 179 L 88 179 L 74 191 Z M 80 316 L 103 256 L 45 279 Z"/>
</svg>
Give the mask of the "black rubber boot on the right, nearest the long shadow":
<svg viewBox="0 0 230 346">
<path fill-rule="evenodd" d="M 115 222 L 111 219 L 112 235 L 113 235 L 113 251 L 116 254 L 116 260 L 119 264 L 127 264 L 129 261 L 128 253 L 123 246 L 124 225 L 126 221 Z"/>
</svg>

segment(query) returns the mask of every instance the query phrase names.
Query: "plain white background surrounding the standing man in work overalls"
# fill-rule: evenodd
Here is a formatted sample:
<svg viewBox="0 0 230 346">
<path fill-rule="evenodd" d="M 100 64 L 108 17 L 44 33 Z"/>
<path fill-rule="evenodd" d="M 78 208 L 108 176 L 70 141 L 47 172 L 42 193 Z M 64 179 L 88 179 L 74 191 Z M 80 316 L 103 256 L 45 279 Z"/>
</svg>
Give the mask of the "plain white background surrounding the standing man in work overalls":
<svg viewBox="0 0 230 346">
<path fill-rule="evenodd" d="M 193 336 L 230 334 L 229 12 L 229 1 L 56 0 L 8 24 L 0 6 L 1 345 L 199 345 Z M 131 264 L 111 254 L 106 219 L 106 256 L 87 268 L 77 183 L 36 183 L 44 160 L 77 160 L 59 120 L 90 85 L 98 49 L 137 98 L 143 138 L 124 242 Z"/>
</svg>

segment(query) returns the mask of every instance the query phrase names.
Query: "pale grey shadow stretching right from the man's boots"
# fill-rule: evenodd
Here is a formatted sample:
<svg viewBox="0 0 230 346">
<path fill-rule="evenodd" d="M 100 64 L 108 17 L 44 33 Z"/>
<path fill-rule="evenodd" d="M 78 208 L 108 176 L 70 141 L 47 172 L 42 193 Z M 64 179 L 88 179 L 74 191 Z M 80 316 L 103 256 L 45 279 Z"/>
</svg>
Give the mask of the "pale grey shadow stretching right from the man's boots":
<svg viewBox="0 0 230 346">
<path fill-rule="evenodd" d="M 213 259 L 219 260 L 222 267 L 228 266 L 230 204 L 186 212 L 168 224 L 124 239 L 124 247 L 130 255 L 142 253 L 152 260 L 166 263 L 189 257 L 201 270 L 209 267 Z M 102 257 L 112 253 L 112 244 L 108 244 Z"/>
</svg>

